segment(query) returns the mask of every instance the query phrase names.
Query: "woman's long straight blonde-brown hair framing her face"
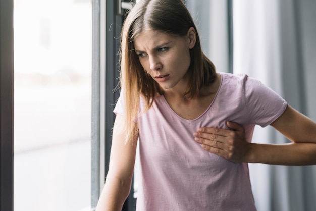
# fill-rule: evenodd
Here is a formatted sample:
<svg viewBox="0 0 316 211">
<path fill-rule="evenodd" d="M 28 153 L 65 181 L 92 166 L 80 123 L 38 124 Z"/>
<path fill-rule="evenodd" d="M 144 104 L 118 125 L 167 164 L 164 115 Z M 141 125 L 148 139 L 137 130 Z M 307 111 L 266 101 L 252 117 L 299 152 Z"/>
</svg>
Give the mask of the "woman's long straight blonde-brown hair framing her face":
<svg viewBox="0 0 316 211">
<path fill-rule="evenodd" d="M 123 24 L 120 48 L 120 87 L 125 101 L 125 142 L 138 135 L 135 123 L 139 109 L 139 99 L 144 97 L 147 111 L 155 95 L 163 94 L 159 84 L 146 74 L 134 49 L 133 40 L 144 30 L 156 30 L 177 36 L 185 36 L 190 27 L 196 32 L 195 46 L 190 49 L 191 64 L 189 67 L 192 79 L 185 96 L 197 97 L 202 86 L 214 82 L 216 77 L 214 64 L 202 51 L 197 28 L 182 0 L 140 0 L 128 13 Z M 144 112 L 145 112 L 144 111 Z"/>
</svg>

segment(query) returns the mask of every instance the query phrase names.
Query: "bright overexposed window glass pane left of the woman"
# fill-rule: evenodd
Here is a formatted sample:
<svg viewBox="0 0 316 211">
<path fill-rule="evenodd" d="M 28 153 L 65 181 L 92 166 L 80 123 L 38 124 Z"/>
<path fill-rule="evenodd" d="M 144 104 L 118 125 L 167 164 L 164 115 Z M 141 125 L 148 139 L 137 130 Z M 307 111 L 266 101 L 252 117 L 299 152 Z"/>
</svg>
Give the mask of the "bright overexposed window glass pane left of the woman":
<svg viewBox="0 0 316 211">
<path fill-rule="evenodd" d="M 91 209 L 91 11 L 14 1 L 15 211 Z"/>
</svg>

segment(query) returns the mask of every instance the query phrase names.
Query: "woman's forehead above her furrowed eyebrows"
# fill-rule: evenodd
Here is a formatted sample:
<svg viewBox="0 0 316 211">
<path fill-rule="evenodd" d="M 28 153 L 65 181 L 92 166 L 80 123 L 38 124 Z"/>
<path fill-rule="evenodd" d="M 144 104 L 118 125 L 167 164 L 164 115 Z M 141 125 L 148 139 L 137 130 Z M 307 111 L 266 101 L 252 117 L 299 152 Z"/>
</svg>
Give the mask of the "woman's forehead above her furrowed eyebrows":
<svg viewBox="0 0 316 211">
<path fill-rule="evenodd" d="M 135 49 L 151 49 L 167 42 L 175 42 L 178 39 L 180 39 L 179 36 L 171 35 L 166 32 L 144 30 L 134 39 L 134 46 Z"/>
</svg>

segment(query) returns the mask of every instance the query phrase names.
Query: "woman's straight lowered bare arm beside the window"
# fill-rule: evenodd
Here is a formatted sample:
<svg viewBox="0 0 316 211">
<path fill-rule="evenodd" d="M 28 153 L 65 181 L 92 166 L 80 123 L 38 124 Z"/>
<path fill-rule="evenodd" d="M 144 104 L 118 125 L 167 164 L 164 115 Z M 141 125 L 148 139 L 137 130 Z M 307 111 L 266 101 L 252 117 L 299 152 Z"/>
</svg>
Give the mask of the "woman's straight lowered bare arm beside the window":
<svg viewBox="0 0 316 211">
<path fill-rule="evenodd" d="M 113 128 L 109 172 L 96 211 L 122 210 L 131 189 L 138 137 L 124 143 L 125 134 L 119 130 L 123 121 L 123 116 L 117 114 Z"/>
</svg>

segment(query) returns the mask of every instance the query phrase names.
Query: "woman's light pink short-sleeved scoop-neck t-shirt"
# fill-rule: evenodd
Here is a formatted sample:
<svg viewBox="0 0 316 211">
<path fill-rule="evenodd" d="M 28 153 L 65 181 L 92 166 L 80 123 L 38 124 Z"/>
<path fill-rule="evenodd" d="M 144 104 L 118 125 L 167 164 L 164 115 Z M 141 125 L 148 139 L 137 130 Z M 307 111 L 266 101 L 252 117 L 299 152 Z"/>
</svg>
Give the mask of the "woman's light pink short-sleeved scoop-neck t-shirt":
<svg viewBox="0 0 316 211">
<path fill-rule="evenodd" d="M 181 118 L 159 95 L 137 118 L 141 166 L 137 210 L 256 210 L 248 165 L 203 150 L 193 133 L 199 127 L 227 129 L 228 120 L 242 124 L 250 142 L 254 126 L 271 124 L 287 102 L 245 74 L 221 76 L 216 97 L 200 117 Z M 123 114 L 123 104 L 120 97 L 114 112 Z M 141 99 L 139 111 L 144 106 Z"/>
</svg>

